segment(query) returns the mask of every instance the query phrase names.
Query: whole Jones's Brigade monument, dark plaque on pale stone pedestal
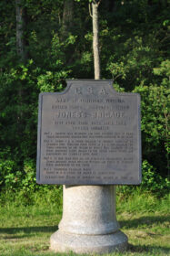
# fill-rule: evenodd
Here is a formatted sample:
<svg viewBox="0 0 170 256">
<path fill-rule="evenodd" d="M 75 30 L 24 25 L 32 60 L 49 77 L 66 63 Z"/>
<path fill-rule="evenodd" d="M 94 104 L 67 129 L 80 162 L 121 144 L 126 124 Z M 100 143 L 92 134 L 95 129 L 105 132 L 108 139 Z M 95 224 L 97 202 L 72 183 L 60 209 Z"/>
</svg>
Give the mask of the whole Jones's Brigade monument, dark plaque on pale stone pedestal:
<svg viewBox="0 0 170 256">
<path fill-rule="evenodd" d="M 67 80 L 39 96 L 37 182 L 63 184 L 63 218 L 53 251 L 124 251 L 115 186 L 141 182 L 140 96 L 112 80 Z"/>
</svg>

